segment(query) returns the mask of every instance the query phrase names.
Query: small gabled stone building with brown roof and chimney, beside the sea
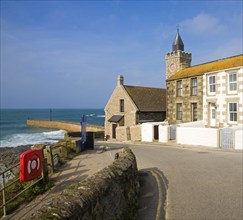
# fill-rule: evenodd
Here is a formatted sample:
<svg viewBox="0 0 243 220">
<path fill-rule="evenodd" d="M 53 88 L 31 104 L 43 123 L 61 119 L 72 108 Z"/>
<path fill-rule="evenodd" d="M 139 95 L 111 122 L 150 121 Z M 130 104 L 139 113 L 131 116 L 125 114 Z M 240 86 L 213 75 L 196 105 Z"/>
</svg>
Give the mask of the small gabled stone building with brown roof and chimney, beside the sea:
<svg viewBox="0 0 243 220">
<path fill-rule="evenodd" d="M 134 140 L 133 136 L 141 132 L 134 126 L 165 120 L 166 89 L 124 85 L 123 76 L 118 76 L 117 86 L 104 110 L 106 137 Z"/>
</svg>

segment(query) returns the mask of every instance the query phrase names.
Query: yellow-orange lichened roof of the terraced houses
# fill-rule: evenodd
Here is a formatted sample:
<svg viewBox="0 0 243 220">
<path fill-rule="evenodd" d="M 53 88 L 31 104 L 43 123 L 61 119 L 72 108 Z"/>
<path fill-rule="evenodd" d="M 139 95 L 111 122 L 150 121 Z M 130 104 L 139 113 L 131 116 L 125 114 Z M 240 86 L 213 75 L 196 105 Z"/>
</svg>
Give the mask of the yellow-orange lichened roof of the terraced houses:
<svg viewBox="0 0 243 220">
<path fill-rule="evenodd" d="M 201 65 L 188 67 L 186 69 L 176 72 L 172 77 L 167 79 L 167 81 L 203 75 L 204 73 L 207 72 L 219 71 L 219 70 L 229 69 L 229 68 L 239 67 L 239 66 L 243 66 L 243 54 L 221 59 L 221 60 L 212 61 L 209 63 L 204 63 Z"/>
</svg>

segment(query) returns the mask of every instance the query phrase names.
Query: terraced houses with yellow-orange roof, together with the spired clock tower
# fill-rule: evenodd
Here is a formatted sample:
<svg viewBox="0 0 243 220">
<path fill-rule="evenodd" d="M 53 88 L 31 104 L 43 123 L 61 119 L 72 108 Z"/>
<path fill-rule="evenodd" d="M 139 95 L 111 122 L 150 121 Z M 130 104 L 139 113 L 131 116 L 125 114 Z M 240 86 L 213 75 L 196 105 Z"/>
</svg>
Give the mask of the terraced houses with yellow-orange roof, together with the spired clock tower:
<svg viewBox="0 0 243 220">
<path fill-rule="evenodd" d="M 242 55 L 191 66 L 179 31 L 165 55 L 167 120 L 204 120 L 206 126 L 242 124 Z"/>
</svg>

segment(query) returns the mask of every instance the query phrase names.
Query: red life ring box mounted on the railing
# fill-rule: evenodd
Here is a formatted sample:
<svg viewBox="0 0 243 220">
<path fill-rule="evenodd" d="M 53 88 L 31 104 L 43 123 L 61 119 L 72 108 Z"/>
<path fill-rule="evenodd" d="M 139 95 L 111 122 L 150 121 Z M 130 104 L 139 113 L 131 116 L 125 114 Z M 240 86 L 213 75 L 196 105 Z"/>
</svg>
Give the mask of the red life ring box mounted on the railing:
<svg viewBox="0 0 243 220">
<path fill-rule="evenodd" d="M 42 151 L 28 150 L 20 155 L 20 182 L 33 180 L 42 174 Z"/>
</svg>

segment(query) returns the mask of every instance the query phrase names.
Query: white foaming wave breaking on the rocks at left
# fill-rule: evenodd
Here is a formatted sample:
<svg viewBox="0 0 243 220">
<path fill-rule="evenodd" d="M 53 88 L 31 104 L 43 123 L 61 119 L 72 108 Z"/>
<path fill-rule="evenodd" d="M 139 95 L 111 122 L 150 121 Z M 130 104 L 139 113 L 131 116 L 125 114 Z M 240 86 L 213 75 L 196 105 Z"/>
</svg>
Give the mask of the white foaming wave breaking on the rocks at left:
<svg viewBox="0 0 243 220">
<path fill-rule="evenodd" d="M 0 141 L 0 147 L 17 147 L 20 145 L 56 143 L 64 138 L 65 131 L 14 134 Z"/>
</svg>

